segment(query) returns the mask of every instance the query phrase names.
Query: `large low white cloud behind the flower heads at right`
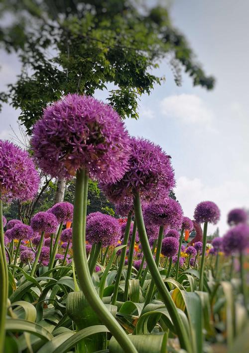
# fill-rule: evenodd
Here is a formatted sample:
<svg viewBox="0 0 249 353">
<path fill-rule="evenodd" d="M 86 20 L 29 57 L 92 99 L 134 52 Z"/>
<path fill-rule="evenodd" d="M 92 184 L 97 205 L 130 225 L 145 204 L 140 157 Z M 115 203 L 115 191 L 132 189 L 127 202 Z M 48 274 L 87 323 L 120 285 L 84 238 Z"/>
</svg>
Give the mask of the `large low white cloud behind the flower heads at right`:
<svg viewBox="0 0 249 353">
<path fill-rule="evenodd" d="M 207 186 L 199 178 L 190 179 L 180 176 L 177 179 L 175 195 L 182 205 L 184 214 L 193 217 L 197 203 L 214 201 L 221 210 L 221 219 L 217 225 L 209 225 L 208 233 L 212 233 L 217 226 L 223 235 L 228 229 L 227 214 L 235 207 L 248 207 L 249 189 L 242 181 L 225 181 L 217 186 Z"/>
</svg>

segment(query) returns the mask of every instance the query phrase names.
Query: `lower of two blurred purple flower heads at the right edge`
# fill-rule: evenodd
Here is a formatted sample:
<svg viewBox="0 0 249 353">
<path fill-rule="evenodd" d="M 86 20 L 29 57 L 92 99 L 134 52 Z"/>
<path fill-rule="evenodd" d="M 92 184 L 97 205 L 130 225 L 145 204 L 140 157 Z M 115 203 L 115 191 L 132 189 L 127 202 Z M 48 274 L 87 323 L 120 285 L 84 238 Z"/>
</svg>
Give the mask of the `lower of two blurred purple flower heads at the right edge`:
<svg viewBox="0 0 249 353">
<path fill-rule="evenodd" d="M 238 224 L 222 238 L 223 250 L 227 255 L 244 252 L 249 247 L 249 226 Z"/>
</svg>

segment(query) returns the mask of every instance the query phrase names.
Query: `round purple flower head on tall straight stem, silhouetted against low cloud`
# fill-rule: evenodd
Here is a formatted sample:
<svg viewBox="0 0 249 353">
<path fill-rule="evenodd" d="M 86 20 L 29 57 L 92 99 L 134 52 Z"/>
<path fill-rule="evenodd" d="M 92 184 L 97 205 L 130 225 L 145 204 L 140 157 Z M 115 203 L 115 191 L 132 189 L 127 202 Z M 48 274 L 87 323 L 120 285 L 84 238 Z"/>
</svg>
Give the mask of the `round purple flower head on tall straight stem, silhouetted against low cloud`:
<svg viewBox="0 0 249 353">
<path fill-rule="evenodd" d="M 209 222 L 216 224 L 220 219 L 221 212 L 218 206 L 212 201 L 198 203 L 195 208 L 194 218 L 197 223 Z"/>
</svg>

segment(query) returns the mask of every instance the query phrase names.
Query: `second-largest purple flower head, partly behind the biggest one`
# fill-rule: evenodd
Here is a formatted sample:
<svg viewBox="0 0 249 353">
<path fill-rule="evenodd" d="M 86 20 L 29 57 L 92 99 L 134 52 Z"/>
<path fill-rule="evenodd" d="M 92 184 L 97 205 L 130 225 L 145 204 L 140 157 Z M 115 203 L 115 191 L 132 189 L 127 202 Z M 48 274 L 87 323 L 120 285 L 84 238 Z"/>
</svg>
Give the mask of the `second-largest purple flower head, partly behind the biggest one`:
<svg viewBox="0 0 249 353">
<path fill-rule="evenodd" d="M 101 184 L 107 197 L 117 202 L 139 191 L 142 199 L 159 199 L 175 185 L 170 158 L 160 146 L 140 138 L 131 138 L 129 170 L 114 184 Z"/>
</svg>

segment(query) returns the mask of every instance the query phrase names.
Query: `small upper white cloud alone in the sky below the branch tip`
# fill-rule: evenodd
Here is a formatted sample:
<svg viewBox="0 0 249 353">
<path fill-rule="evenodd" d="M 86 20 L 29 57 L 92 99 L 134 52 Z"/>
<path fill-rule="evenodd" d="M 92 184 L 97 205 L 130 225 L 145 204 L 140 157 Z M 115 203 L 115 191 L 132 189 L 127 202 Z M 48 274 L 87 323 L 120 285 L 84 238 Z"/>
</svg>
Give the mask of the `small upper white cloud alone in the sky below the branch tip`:
<svg viewBox="0 0 249 353">
<path fill-rule="evenodd" d="M 185 124 L 204 124 L 211 126 L 213 112 L 205 102 L 195 94 L 179 94 L 161 101 L 161 112 L 168 118 L 174 118 Z"/>
</svg>

